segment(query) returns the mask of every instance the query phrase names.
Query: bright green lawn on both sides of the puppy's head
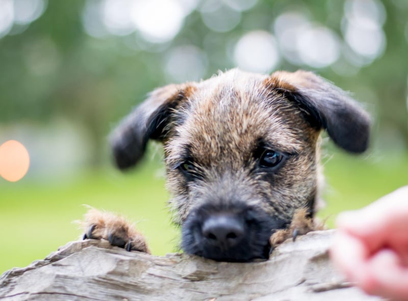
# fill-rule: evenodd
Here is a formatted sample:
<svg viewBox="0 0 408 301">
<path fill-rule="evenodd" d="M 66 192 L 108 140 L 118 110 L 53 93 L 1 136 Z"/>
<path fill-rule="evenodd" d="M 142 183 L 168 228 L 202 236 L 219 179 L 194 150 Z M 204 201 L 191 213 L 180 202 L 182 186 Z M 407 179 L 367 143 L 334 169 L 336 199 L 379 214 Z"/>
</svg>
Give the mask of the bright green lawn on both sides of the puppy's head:
<svg viewBox="0 0 408 301">
<path fill-rule="evenodd" d="M 325 160 L 323 160 L 324 162 Z M 0 179 L 0 273 L 42 259 L 81 231 L 72 223 L 86 212 L 82 204 L 121 213 L 136 221 L 152 253 L 174 252 L 179 230 L 170 224 L 168 194 L 158 163 L 131 173 L 113 169 L 59 180 Z M 326 208 L 320 212 L 333 227 L 336 215 L 361 208 L 381 195 L 408 184 L 408 156 L 379 160 L 336 154 L 324 163 Z"/>
</svg>

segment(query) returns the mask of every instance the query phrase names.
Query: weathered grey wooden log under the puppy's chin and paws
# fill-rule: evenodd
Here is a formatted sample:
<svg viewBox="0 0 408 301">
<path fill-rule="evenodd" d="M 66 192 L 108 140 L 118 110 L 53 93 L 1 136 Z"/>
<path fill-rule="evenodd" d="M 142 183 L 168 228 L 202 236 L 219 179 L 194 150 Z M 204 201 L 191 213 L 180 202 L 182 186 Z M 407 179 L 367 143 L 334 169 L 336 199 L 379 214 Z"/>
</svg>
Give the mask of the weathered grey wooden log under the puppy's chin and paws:
<svg viewBox="0 0 408 301">
<path fill-rule="evenodd" d="M 286 241 L 270 260 L 215 262 L 126 252 L 107 241 L 69 242 L 5 272 L 4 300 L 379 300 L 345 282 L 328 258 L 333 230 Z"/>
</svg>

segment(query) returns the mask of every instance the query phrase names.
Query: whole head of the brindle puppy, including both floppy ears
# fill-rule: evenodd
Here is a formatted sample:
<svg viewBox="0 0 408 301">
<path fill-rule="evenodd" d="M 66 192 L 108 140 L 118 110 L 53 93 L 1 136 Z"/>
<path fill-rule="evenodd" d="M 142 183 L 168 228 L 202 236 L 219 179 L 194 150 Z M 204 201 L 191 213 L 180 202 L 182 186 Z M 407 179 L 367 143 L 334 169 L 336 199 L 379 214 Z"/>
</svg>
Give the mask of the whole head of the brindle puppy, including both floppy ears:
<svg viewBox="0 0 408 301">
<path fill-rule="evenodd" d="M 321 129 L 349 152 L 368 143 L 368 115 L 313 73 L 231 70 L 154 91 L 112 135 L 122 169 L 162 141 L 174 221 L 185 252 L 267 258 L 295 210 L 313 217 Z"/>
</svg>

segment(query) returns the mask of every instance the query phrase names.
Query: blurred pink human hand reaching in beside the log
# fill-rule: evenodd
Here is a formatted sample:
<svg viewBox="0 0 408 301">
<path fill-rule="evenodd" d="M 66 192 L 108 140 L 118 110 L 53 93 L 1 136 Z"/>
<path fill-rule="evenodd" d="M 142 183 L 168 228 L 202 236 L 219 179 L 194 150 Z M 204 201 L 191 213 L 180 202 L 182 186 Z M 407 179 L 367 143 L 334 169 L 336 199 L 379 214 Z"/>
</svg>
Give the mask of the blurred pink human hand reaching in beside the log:
<svg viewBox="0 0 408 301">
<path fill-rule="evenodd" d="M 341 213 L 330 249 L 347 279 L 369 294 L 408 300 L 408 186 Z"/>
</svg>

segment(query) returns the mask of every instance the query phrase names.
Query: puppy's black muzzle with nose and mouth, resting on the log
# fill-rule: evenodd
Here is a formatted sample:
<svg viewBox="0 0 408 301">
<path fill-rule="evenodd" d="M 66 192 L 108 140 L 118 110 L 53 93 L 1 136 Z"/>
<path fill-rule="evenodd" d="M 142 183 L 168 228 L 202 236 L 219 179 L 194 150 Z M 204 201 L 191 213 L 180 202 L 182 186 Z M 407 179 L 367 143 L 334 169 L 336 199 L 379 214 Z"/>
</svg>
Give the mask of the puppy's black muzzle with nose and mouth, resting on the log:
<svg viewBox="0 0 408 301">
<path fill-rule="evenodd" d="M 228 262 L 268 259 L 269 238 L 287 223 L 245 205 L 200 207 L 183 224 L 182 248 L 188 254 Z"/>
</svg>

